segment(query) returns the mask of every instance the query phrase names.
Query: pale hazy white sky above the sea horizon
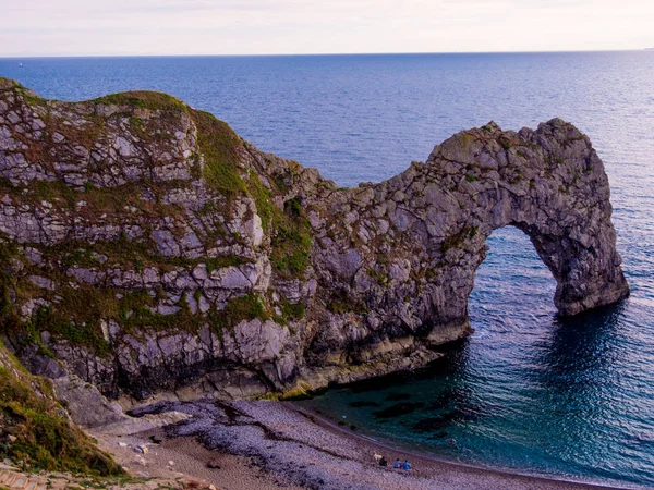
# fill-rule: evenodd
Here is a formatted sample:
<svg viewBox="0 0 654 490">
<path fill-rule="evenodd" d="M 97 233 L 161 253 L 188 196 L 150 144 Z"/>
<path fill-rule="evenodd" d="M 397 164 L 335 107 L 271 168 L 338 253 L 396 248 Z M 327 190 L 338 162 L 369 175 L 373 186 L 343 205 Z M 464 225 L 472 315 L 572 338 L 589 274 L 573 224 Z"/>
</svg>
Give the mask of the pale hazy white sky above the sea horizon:
<svg viewBox="0 0 654 490">
<path fill-rule="evenodd" d="M 0 0 L 0 57 L 654 47 L 654 0 Z"/>
</svg>

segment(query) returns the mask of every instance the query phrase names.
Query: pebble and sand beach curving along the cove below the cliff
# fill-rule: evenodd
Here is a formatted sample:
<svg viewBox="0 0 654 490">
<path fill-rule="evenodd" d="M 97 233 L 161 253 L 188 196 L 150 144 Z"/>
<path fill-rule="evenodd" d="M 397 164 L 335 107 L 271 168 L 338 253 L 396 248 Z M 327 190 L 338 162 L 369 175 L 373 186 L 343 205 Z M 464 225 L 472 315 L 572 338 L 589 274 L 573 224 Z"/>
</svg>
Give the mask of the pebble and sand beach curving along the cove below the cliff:
<svg viewBox="0 0 654 490">
<path fill-rule="evenodd" d="M 119 442 L 146 443 L 145 466 L 130 467 L 149 476 L 190 475 L 226 490 L 251 489 L 533 489 L 582 490 L 598 487 L 557 481 L 441 462 L 397 450 L 343 430 L 290 403 L 160 403 L 140 413 L 183 412 L 193 417 L 132 436 L 100 436 L 116 454 Z M 153 443 L 154 438 L 160 441 Z M 134 453 L 126 462 L 134 461 Z M 119 461 L 123 462 L 119 456 Z M 380 467 L 374 454 L 409 460 L 413 469 Z M 174 464 L 169 465 L 172 461 Z M 209 468 L 207 463 L 219 468 Z M 158 471 L 164 471 L 159 474 Z M 168 473 L 166 473 L 168 471 Z M 637 488 L 637 487 L 625 487 Z"/>
</svg>

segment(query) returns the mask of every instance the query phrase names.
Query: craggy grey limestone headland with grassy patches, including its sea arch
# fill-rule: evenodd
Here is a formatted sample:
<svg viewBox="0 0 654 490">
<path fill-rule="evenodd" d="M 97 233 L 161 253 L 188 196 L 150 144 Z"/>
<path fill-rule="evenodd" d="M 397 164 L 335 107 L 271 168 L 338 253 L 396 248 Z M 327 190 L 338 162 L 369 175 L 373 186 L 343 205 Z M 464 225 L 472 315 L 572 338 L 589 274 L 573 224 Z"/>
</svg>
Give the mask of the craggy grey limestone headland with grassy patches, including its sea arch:
<svg viewBox="0 0 654 490">
<path fill-rule="evenodd" d="M 0 177 L 7 342 L 112 396 L 424 364 L 469 332 L 485 240 L 506 225 L 531 237 L 562 315 L 629 293 L 603 163 L 560 120 L 462 132 L 338 188 L 162 94 L 66 103 L 0 79 Z"/>
</svg>

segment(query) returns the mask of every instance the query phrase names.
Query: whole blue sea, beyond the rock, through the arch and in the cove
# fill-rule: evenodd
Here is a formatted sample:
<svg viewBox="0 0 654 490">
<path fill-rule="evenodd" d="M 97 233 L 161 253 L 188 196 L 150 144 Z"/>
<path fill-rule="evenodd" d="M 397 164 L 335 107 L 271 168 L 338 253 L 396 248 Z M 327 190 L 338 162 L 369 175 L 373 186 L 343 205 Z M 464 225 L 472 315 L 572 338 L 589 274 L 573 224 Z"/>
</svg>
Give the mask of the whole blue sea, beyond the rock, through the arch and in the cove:
<svg viewBox="0 0 654 490">
<path fill-rule="evenodd" d="M 498 230 L 470 298 L 472 336 L 428 369 L 308 403 L 447 460 L 654 486 L 654 51 L 0 59 L 0 75 L 64 100 L 170 93 L 343 186 L 387 179 L 491 120 L 574 123 L 606 166 L 631 297 L 557 318 L 530 241 Z"/>
</svg>

